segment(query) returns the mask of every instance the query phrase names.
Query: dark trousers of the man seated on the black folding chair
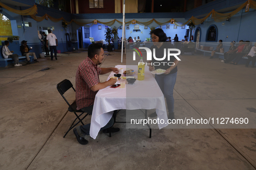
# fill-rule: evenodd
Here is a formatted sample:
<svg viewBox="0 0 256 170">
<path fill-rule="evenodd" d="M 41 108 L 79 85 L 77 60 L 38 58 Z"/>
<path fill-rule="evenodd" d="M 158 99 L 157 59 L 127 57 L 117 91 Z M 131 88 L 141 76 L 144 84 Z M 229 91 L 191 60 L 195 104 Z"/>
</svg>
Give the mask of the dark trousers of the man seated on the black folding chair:
<svg viewBox="0 0 256 170">
<path fill-rule="evenodd" d="M 83 110 L 86 113 L 92 114 L 93 106 L 94 105 L 84 107 L 81 110 Z M 111 126 L 113 126 L 115 119 L 116 119 L 116 114 L 114 113 L 113 116 L 111 117 L 110 121 L 107 123 L 107 125 L 100 128 L 100 130 L 107 129 L 107 128 L 110 128 Z M 78 126 L 76 128 L 78 131 L 78 135 L 81 137 L 85 137 L 85 135 L 90 135 L 90 127 L 91 127 L 91 123 L 83 125 L 83 126 Z"/>
</svg>

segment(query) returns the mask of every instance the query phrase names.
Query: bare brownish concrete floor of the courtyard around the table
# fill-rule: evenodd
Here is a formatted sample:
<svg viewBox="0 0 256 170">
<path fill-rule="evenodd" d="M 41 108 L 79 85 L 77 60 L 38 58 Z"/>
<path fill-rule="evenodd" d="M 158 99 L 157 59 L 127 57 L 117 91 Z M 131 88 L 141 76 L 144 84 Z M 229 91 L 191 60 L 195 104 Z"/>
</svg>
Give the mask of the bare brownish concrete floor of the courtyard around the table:
<svg viewBox="0 0 256 170">
<path fill-rule="evenodd" d="M 120 52 L 110 54 L 102 67 L 125 64 L 120 63 Z M 148 129 L 126 129 L 119 123 L 115 127 L 120 132 L 111 138 L 100 132 L 96 140 L 87 136 L 87 145 L 80 145 L 72 131 L 63 138 L 75 116 L 67 111 L 56 85 L 63 79 L 75 85 L 76 69 L 86 56 L 87 52 L 60 54 L 58 60 L 39 58 L 39 63 L 0 68 L 0 170 L 256 168 L 255 129 L 169 126 L 152 129 L 149 139 Z M 256 124 L 256 69 L 200 55 L 180 58 L 176 118 L 244 115 Z M 50 69 L 39 71 L 45 67 Z M 100 81 L 107 76 L 100 76 Z M 72 91 L 66 97 L 75 100 Z M 124 114 L 123 110 L 119 118 Z"/>
</svg>

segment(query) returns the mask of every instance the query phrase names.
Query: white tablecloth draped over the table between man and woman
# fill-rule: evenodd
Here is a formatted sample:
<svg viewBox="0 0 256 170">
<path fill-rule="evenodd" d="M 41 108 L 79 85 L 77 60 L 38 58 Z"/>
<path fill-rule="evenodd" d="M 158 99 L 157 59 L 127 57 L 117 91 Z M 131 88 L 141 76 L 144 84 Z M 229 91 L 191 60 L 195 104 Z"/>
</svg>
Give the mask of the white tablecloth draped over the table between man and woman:
<svg viewBox="0 0 256 170">
<path fill-rule="evenodd" d="M 117 68 L 134 69 L 137 77 L 138 66 L 117 65 Z M 110 76 L 113 76 L 113 72 Z M 108 79 L 109 79 L 108 77 Z M 107 79 L 107 80 L 108 80 Z M 157 118 L 163 119 L 165 123 L 168 120 L 165 99 L 155 78 L 149 72 L 149 66 L 145 66 L 145 79 L 138 81 L 133 85 L 126 82 L 125 88 L 107 88 L 98 91 L 94 101 L 94 108 L 91 116 L 90 136 L 96 139 L 101 127 L 104 127 L 113 115 L 113 110 L 127 109 L 154 109 L 156 108 Z M 159 129 L 168 124 L 158 124 Z"/>
</svg>

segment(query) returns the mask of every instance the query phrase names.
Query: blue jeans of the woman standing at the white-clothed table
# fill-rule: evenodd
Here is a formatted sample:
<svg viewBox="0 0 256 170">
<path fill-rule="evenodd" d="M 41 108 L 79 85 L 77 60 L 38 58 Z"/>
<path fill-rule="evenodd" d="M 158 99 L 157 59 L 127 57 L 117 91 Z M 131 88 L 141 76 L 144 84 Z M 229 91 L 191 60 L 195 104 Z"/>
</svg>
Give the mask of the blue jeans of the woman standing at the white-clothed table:
<svg viewBox="0 0 256 170">
<path fill-rule="evenodd" d="M 174 111 L 173 88 L 176 82 L 177 72 L 173 74 L 161 74 L 155 76 L 156 82 L 159 85 L 162 93 L 166 98 L 166 103 L 169 113 Z"/>
</svg>

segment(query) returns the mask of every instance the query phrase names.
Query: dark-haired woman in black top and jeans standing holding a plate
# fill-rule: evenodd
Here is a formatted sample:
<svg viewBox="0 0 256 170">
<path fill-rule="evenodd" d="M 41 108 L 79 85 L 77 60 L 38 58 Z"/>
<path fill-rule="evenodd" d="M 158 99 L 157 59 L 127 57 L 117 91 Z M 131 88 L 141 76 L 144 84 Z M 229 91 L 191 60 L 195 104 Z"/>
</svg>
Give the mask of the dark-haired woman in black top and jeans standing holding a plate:
<svg viewBox="0 0 256 170">
<path fill-rule="evenodd" d="M 163 58 L 164 56 L 164 50 L 168 48 L 174 48 L 173 45 L 169 42 L 165 42 L 167 40 L 167 37 L 165 35 L 165 32 L 157 28 L 152 32 L 152 41 L 153 46 L 150 48 L 151 51 L 153 49 L 156 50 L 155 54 L 157 58 Z M 164 43 L 165 42 L 165 43 Z M 154 57 L 152 57 L 152 63 L 159 62 L 159 60 L 156 60 Z M 166 63 L 172 63 L 172 66 L 169 66 Z M 165 63 L 165 64 L 164 64 Z M 179 61 L 174 57 L 170 56 L 170 60 L 168 60 L 168 57 L 166 56 L 164 60 L 161 60 L 161 65 L 155 66 L 155 69 L 165 69 L 165 73 L 161 75 L 155 75 L 156 82 L 158 83 L 162 93 L 164 94 L 166 98 L 166 103 L 168 107 L 168 118 L 174 119 L 174 99 L 173 99 L 173 88 L 176 82 L 177 77 L 177 65 Z M 154 67 L 149 65 L 149 70 L 153 71 Z M 150 117 L 156 116 L 156 113 L 152 113 Z"/>
</svg>

